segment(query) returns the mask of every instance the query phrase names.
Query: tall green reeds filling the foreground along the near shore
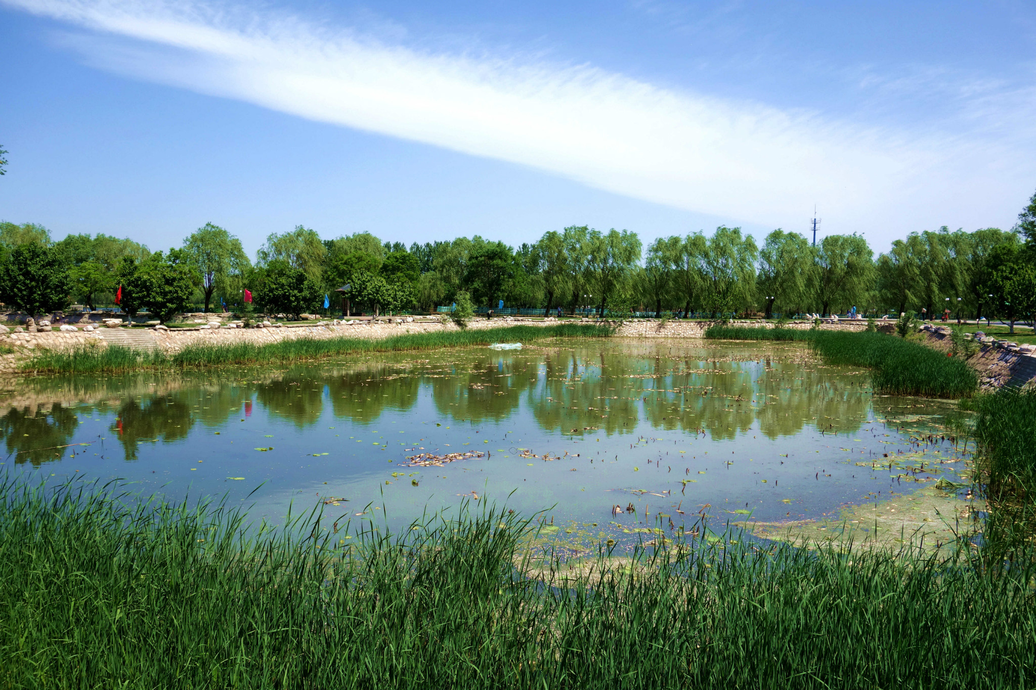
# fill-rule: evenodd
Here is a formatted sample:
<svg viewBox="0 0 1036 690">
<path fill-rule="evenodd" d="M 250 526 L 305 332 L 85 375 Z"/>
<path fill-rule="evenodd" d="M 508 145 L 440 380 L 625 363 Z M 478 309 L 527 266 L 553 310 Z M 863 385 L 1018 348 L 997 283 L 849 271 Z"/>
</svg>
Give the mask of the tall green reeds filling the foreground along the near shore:
<svg viewBox="0 0 1036 690">
<path fill-rule="evenodd" d="M 247 536 L 221 506 L 81 488 L 0 483 L 3 687 L 1036 683 L 1034 573 L 981 554 L 692 541 L 544 587 L 515 567 L 535 526 L 502 509 L 405 540 L 316 511 Z"/>
</svg>

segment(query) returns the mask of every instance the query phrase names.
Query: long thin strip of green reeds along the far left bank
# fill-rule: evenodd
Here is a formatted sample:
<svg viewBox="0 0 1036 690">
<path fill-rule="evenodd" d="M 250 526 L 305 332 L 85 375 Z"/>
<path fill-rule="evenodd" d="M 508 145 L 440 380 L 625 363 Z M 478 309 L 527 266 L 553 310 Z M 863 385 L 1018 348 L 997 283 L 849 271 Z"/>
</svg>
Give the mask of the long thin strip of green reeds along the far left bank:
<svg viewBox="0 0 1036 690">
<path fill-rule="evenodd" d="M 23 364 L 39 372 L 124 372 L 144 368 L 184 368 L 241 364 L 301 362 L 372 352 L 438 350 L 488 346 L 493 342 L 531 342 L 550 337 L 604 337 L 607 328 L 592 325 L 507 326 L 482 330 L 439 331 L 395 335 L 380 340 L 367 338 L 299 338 L 269 344 L 192 344 L 174 355 L 161 351 L 131 350 L 119 346 L 46 351 Z"/>
</svg>

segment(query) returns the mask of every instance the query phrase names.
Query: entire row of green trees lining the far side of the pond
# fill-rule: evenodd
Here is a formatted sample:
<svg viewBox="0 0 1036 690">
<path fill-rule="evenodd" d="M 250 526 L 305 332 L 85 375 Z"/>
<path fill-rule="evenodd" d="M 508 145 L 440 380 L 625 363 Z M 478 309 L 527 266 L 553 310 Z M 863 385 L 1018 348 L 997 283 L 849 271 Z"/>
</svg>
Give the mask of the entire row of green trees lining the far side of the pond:
<svg viewBox="0 0 1036 690">
<path fill-rule="evenodd" d="M 31 278 L 29 277 L 31 276 Z M 1036 194 L 1010 231 L 947 228 L 911 233 L 874 259 L 861 235 L 829 235 L 815 246 L 775 230 L 761 247 L 738 228 L 711 236 L 656 239 L 642 251 L 635 233 L 585 226 L 549 231 L 517 249 L 482 237 L 382 242 L 368 233 L 324 240 L 308 228 L 272 234 L 249 260 L 240 241 L 207 223 L 168 252 L 130 239 L 70 235 L 51 241 L 39 226 L 0 223 L 0 299 L 33 313 L 118 300 L 159 319 L 202 303 L 246 307 L 246 291 L 266 312 L 318 309 L 396 312 L 476 304 L 656 316 L 761 311 L 930 317 L 1036 311 Z"/>
</svg>

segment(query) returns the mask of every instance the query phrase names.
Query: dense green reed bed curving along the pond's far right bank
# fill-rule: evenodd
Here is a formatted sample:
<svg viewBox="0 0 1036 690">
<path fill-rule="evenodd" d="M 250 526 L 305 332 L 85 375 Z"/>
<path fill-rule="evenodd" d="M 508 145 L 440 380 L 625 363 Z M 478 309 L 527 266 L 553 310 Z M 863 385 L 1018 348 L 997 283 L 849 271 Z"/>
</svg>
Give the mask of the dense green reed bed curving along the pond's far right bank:
<svg viewBox="0 0 1036 690">
<path fill-rule="evenodd" d="M 891 395 L 958 398 L 973 395 L 978 388 L 978 377 L 961 359 L 884 333 L 713 326 L 706 330 L 706 337 L 809 342 L 830 364 L 872 368 L 874 390 Z"/>
</svg>

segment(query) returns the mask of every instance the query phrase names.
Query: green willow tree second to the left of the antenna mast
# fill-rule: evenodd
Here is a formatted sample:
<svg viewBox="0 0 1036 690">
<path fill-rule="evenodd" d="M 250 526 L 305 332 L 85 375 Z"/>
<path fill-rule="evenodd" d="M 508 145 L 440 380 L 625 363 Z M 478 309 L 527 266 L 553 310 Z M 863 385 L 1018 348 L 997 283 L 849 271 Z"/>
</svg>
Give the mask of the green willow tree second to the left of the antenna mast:
<svg viewBox="0 0 1036 690">
<path fill-rule="evenodd" d="M 757 254 L 755 240 L 751 235 L 742 237 L 741 228 L 720 226 L 709 238 L 702 266 L 704 299 L 713 314 L 735 311 L 750 298 Z"/>
</svg>

